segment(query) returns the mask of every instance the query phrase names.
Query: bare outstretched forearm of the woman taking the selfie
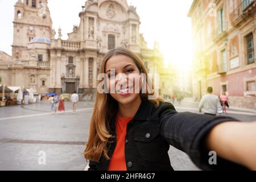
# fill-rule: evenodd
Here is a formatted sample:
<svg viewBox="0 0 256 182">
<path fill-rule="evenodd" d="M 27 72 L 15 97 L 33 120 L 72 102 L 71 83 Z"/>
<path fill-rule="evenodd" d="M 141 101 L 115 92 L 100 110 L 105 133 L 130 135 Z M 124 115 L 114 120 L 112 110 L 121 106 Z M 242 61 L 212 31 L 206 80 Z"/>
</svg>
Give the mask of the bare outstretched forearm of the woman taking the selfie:
<svg viewBox="0 0 256 182">
<path fill-rule="evenodd" d="M 256 170 L 256 122 L 224 122 L 210 131 L 207 147 L 221 158 Z"/>
</svg>

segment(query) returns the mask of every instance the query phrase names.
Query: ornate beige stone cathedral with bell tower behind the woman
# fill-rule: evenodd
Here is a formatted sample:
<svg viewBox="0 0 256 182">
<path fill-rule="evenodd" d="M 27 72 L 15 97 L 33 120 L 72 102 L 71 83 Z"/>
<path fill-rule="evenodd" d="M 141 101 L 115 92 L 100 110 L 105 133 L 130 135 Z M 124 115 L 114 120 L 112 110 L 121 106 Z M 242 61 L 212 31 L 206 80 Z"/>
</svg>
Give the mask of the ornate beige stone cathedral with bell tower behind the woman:
<svg viewBox="0 0 256 182">
<path fill-rule="evenodd" d="M 18 0 L 14 7 L 13 55 L 0 52 L 3 84 L 33 88 L 42 95 L 76 91 L 86 96 L 97 88 L 105 53 L 117 47 L 141 56 L 151 73 L 163 66 L 158 45 L 148 49 L 139 34 L 139 16 L 127 0 L 87 0 L 80 25 L 73 26 L 67 40 L 61 39 L 61 28 L 52 29 L 47 0 Z"/>
</svg>

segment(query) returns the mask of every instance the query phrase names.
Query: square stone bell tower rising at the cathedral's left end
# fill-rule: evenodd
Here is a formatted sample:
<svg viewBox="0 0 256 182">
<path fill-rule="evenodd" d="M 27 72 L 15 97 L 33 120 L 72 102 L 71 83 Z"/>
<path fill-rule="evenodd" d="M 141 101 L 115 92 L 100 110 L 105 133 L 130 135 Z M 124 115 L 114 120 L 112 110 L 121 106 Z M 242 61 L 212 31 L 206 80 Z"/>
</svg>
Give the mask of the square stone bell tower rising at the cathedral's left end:
<svg viewBox="0 0 256 182">
<path fill-rule="evenodd" d="M 14 5 L 13 57 L 27 60 L 27 44 L 34 38 L 51 39 L 52 19 L 47 0 L 18 0 Z"/>
</svg>

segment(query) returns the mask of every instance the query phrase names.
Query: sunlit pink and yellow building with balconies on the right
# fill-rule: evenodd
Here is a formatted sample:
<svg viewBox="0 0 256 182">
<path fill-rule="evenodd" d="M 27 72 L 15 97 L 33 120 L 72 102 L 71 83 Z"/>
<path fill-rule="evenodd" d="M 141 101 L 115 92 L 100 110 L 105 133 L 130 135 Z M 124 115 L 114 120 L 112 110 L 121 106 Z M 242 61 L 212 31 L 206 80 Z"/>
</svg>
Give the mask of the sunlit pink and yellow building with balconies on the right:
<svg viewBox="0 0 256 182">
<path fill-rule="evenodd" d="M 192 20 L 193 96 L 212 86 L 234 107 L 255 109 L 256 2 L 195 0 Z"/>
</svg>

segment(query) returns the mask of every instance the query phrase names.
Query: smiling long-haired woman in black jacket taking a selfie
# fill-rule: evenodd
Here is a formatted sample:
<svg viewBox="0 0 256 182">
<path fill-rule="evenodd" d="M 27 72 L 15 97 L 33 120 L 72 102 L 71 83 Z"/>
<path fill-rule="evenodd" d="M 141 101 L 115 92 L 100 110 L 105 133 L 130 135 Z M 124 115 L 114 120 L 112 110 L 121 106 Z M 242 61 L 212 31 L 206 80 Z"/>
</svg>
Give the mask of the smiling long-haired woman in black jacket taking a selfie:
<svg viewBox="0 0 256 182">
<path fill-rule="evenodd" d="M 186 152 L 201 169 L 256 169 L 256 122 L 177 113 L 170 103 L 150 100 L 151 90 L 142 92 L 150 81 L 147 71 L 126 48 L 110 50 L 100 73 L 108 76 L 104 79 L 107 89 L 97 92 L 90 121 L 84 152 L 89 170 L 173 170 L 170 145 Z M 141 73 L 146 79 L 139 77 L 137 93 L 134 78 Z M 119 75 L 127 77 L 115 79 Z M 125 83 L 129 86 L 122 86 Z M 216 165 L 209 163 L 210 151 L 217 154 Z"/>
</svg>

